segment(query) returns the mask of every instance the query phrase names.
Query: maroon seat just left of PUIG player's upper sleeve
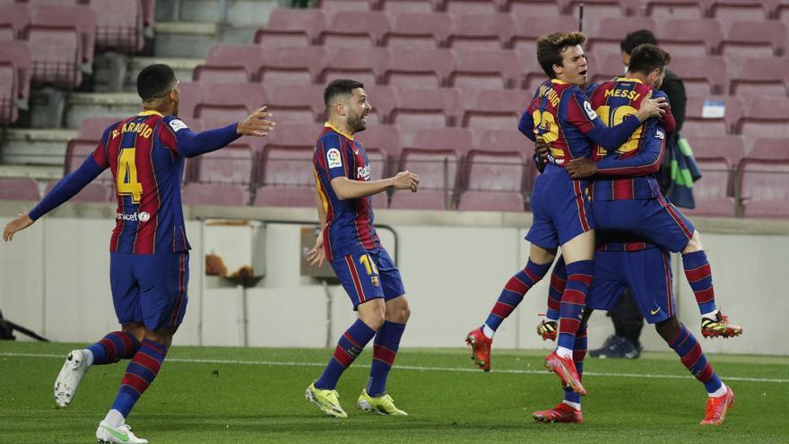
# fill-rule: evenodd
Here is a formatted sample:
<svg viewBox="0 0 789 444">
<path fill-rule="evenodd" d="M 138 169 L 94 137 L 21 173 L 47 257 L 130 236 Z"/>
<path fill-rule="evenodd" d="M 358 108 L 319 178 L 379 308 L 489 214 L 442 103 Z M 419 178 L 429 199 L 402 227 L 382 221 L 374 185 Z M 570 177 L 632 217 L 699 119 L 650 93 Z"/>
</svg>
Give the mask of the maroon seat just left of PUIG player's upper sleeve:
<svg viewBox="0 0 789 444">
<path fill-rule="evenodd" d="M 514 130 L 533 93 L 524 90 L 481 90 L 465 107 L 462 126 Z"/>
</svg>

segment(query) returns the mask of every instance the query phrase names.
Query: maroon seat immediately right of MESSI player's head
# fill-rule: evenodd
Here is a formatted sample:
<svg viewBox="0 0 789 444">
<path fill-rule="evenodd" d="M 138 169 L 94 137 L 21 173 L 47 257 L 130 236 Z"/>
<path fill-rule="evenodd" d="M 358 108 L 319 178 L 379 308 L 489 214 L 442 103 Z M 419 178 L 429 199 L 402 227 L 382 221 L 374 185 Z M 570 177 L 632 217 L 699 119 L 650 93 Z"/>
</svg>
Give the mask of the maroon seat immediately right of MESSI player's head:
<svg viewBox="0 0 789 444">
<path fill-rule="evenodd" d="M 672 57 L 669 69 L 680 76 L 687 94 L 724 94 L 728 89 L 726 57 Z"/>
</svg>

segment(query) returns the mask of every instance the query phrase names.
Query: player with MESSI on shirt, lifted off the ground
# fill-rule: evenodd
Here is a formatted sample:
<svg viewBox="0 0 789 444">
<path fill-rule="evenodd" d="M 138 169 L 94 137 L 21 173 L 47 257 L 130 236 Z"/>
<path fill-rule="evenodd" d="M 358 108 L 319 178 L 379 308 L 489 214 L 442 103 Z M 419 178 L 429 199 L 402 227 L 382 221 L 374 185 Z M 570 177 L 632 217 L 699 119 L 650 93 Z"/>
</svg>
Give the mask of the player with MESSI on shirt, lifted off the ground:
<svg viewBox="0 0 789 444">
<path fill-rule="evenodd" d="M 633 114 L 648 91 L 660 88 L 671 56 L 655 45 L 633 50 L 628 75 L 601 84 L 592 95 L 595 112 L 615 125 Z M 663 96 L 655 91 L 655 97 Z M 741 326 L 729 322 L 715 307 L 707 255 L 698 231 L 684 214 L 660 193 L 655 172 L 660 168 L 667 134 L 673 118 L 647 121 L 628 142 L 616 150 L 596 147 L 591 161 L 570 161 L 571 178 L 590 178 L 589 192 L 594 221 L 601 229 L 631 231 L 674 253 L 682 253 L 682 265 L 701 313 L 701 333 L 706 337 L 741 335 Z M 665 125 L 665 127 L 663 127 Z"/>
</svg>

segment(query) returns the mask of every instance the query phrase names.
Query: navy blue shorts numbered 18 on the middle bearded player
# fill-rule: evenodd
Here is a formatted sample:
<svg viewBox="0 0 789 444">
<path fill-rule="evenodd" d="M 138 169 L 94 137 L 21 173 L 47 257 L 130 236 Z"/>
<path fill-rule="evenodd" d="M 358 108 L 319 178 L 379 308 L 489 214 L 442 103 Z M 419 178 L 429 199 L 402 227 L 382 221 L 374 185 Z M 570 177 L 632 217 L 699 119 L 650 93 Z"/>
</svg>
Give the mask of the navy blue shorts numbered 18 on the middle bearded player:
<svg viewBox="0 0 789 444">
<path fill-rule="evenodd" d="M 350 255 L 335 257 L 332 269 L 354 310 L 371 299 L 393 300 L 405 294 L 400 271 L 384 248 L 371 251 L 357 246 Z"/>
</svg>

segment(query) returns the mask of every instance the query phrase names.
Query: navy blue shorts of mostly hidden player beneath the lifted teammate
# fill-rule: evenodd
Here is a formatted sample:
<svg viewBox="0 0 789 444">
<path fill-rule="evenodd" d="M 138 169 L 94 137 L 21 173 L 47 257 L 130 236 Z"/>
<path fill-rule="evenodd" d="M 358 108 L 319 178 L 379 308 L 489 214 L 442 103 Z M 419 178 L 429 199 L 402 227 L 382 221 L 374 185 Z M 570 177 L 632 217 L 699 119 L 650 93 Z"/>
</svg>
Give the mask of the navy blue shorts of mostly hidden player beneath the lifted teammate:
<svg viewBox="0 0 789 444">
<path fill-rule="evenodd" d="M 594 252 L 594 280 L 586 308 L 610 311 L 626 288 L 650 324 L 663 322 L 677 311 L 669 254 L 663 249 Z"/>
</svg>

